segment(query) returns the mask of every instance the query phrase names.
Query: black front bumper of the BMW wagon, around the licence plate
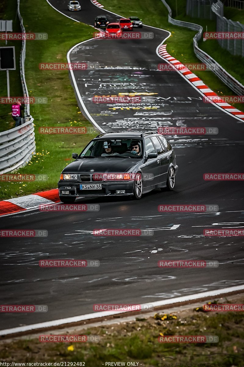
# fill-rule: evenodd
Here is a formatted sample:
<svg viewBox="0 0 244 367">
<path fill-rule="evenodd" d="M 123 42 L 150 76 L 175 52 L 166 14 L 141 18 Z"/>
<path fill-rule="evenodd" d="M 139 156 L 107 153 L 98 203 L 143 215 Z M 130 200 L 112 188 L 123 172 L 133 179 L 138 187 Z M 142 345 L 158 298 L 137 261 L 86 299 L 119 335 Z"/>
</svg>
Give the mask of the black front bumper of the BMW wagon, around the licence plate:
<svg viewBox="0 0 244 367">
<path fill-rule="evenodd" d="M 101 183 L 102 189 L 100 190 L 80 190 L 80 184 L 99 184 Z M 134 181 L 115 181 L 115 182 L 72 182 L 72 181 L 59 181 L 58 182 L 59 195 L 61 196 L 73 196 L 73 197 L 95 197 L 95 196 L 124 196 L 133 195 Z M 125 190 L 123 194 L 116 194 L 116 190 Z M 69 194 L 62 194 L 61 191 L 69 191 Z"/>
</svg>

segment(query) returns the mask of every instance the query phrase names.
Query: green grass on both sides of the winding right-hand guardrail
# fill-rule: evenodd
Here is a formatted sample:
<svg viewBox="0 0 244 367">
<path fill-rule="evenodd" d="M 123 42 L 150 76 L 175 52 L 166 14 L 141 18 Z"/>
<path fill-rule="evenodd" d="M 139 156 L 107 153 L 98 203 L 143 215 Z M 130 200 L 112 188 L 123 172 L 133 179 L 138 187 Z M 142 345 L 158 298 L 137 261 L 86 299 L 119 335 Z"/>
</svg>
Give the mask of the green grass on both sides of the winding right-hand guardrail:
<svg viewBox="0 0 244 367">
<path fill-rule="evenodd" d="M 173 17 L 176 17 L 176 2 L 175 0 L 167 1 L 172 8 Z M 177 0 L 177 19 L 201 24 L 206 30 L 215 30 L 214 21 L 207 19 L 191 18 L 185 15 L 185 0 Z M 102 0 L 105 9 L 113 11 L 124 17 L 137 16 L 142 19 L 144 24 L 155 26 L 158 28 L 169 30 L 172 35 L 165 43 L 167 44 L 167 51 L 181 62 L 185 63 L 199 63 L 193 50 L 193 37 L 195 31 L 183 27 L 173 26 L 168 22 L 168 10 L 161 0 L 150 0 L 139 2 L 137 0 Z M 213 56 L 226 70 L 236 77 L 237 80 L 244 81 L 243 59 L 239 56 L 232 56 L 226 50 L 223 50 L 217 41 L 199 42 L 199 46 L 204 51 Z M 208 50 L 215 51 L 214 55 Z M 215 55 L 217 54 L 217 55 Z M 218 95 L 235 95 L 234 92 L 222 83 L 218 77 L 211 71 L 194 71 L 200 79 L 204 81 L 213 91 Z M 231 103 L 240 110 L 244 110 L 244 103 Z"/>
</svg>

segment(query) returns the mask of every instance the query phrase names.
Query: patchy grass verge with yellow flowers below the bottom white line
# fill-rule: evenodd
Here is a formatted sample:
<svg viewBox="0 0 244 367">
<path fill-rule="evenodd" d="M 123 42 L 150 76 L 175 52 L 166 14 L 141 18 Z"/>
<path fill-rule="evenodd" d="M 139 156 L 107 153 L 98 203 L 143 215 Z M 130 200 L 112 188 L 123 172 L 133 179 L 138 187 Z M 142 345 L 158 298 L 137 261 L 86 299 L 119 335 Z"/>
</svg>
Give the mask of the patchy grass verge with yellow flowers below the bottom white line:
<svg viewBox="0 0 244 367">
<path fill-rule="evenodd" d="M 237 302 L 239 303 L 239 302 Z M 159 343 L 163 335 L 217 335 L 218 343 Z M 50 334 L 47 332 L 46 334 Z M 59 334 L 56 331 L 56 334 Z M 61 333 L 60 333 L 61 334 Z M 66 334 L 66 333 L 62 333 Z M 38 339 L 0 344 L 2 361 L 85 362 L 86 367 L 106 362 L 137 362 L 138 366 L 242 366 L 244 358 L 244 319 L 241 312 L 196 313 L 182 311 L 176 320 L 133 320 L 82 330 L 76 335 L 99 335 L 98 343 L 40 343 Z M 69 349 L 68 349 L 69 348 Z M 178 363 L 178 364 L 177 364 Z M 108 365 L 107 365 L 108 366 Z"/>
</svg>

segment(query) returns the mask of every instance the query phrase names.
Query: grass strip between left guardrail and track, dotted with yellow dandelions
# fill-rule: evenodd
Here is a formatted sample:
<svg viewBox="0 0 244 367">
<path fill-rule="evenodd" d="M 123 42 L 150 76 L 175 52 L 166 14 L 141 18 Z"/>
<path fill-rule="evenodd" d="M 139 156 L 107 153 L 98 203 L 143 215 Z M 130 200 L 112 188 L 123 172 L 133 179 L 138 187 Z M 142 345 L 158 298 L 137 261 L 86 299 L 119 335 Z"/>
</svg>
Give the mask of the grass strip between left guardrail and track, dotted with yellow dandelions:
<svg viewBox="0 0 244 367">
<path fill-rule="evenodd" d="M 15 0 L 9 0 L 15 3 Z M 27 41 L 26 83 L 29 95 L 47 97 L 47 104 L 30 105 L 34 117 L 36 154 L 21 174 L 45 174 L 44 182 L 0 182 L 0 198 L 27 195 L 57 187 L 60 172 L 72 160 L 72 152 L 79 153 L 96 134 L 39 134 L 41 126 L 87 126 L 91 124 L 80 113 L 68 71 L 39 70 L 40 62 L 67 62 L 67 51 L 75 44 L 92 37 L 93 29 L 64 17 L 40 0 L 33 7 L 32 0 L 20 3 L 26 32 L 48 33 L 48 40 Z"/>
</svg>

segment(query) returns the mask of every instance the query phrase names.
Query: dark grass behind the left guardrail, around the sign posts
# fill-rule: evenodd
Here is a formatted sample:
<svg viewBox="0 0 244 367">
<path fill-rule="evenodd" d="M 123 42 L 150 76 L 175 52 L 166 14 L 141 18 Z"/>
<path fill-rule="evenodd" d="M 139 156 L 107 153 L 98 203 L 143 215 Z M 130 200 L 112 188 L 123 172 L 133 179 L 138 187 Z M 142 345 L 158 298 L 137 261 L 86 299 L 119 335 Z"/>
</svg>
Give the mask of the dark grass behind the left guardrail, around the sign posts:
<svg viewBox="0 0 244 367">
<path fill-rule="evenodd" d="M 13 32 L 21 32 L 19 18 L 16 15 L 17 1 L 1 0 L 0 2 L 0 19 L 13 21 Z M 22 97 L 23 90 L 20 79 L 19 56 L 22 46 L 22 41 L 0 41 L 0 47 L 14 46 L 16 70 L 9 71 L 10 77 L 10 96 Z M 7 97 L 7 75 L 5 70 L 0 71 L 0 96 Z M 11 105 L 0 105 L 0 132 L 15 127 L 15 121 L 12 119 Z"/>
</svg>

